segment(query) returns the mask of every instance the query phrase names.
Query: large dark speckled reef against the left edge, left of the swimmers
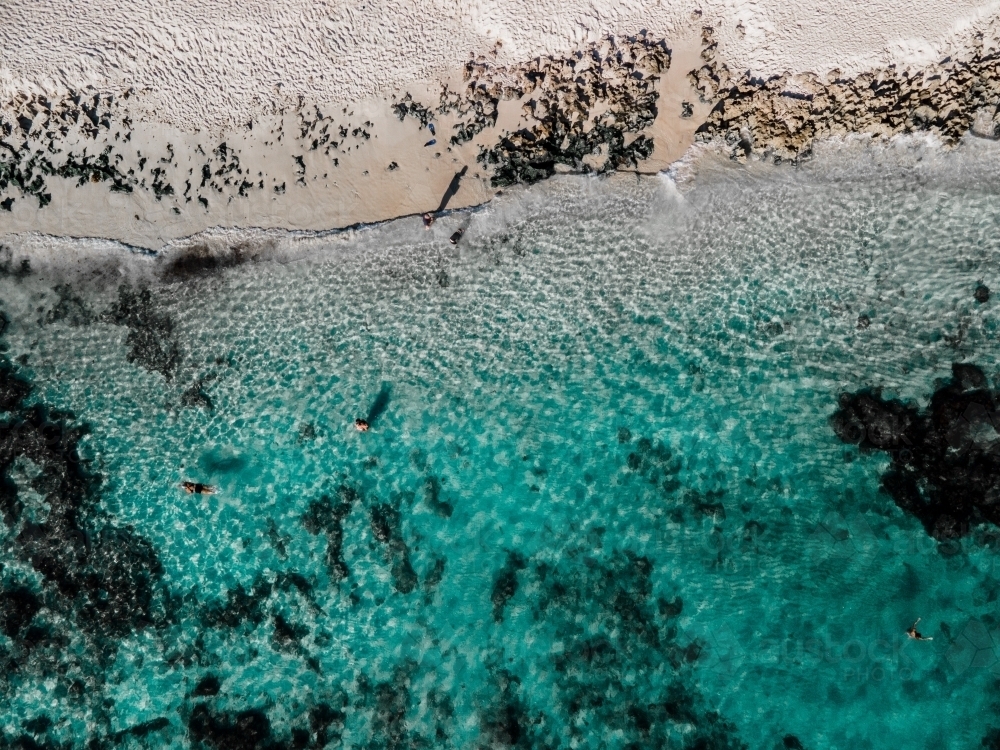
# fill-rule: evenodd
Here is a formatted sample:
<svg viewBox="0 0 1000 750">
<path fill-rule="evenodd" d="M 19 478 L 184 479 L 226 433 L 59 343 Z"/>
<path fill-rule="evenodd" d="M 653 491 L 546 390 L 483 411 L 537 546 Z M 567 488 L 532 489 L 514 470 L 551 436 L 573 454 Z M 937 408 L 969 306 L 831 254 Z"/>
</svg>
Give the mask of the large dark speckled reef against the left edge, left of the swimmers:
<svg viewBox="0 0 1000 750">
<path fill-rule="evenodd" d="M 170 594 L 156 549 L 98 509 L 102 479 L 79 451 L 87 427 L 32 391 L 0 358 L 0 696 L 44 678 L 87 701 L 103 694 L 120 639 L 170 621 Z M 0 733 L 0 744 L 18 742 L 41 746 Z"/>
</svg>

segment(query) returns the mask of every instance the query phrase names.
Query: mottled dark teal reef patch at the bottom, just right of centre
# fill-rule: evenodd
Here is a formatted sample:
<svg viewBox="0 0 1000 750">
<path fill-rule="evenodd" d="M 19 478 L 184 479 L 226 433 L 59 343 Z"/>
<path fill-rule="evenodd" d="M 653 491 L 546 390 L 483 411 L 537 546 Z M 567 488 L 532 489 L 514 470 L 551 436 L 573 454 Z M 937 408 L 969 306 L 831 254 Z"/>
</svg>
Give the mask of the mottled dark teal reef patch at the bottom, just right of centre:
<svg viewBox="0 0 1000 750">
<path fill-rule="evenodd" d="M 682 640 L 676 618 L 683 604 L 654 597 L 652 574 L 645 557 L 582 550 L 520 570 L 535 595 L 534 622 L 563 648 L 550 657 L 554 685 L 545 713 L 525 699 L 502 653 L 487 658 L 495 688 L 481 701 L 480 726 L 489 746 L 586 745 L 599 727 L 620 747 L 745 750 L 733 724 L 709 708 L 691 681 L 686 654 L 701 648 Z M 623 681 L 625 673 L 635 681 Z"/>
</svg>

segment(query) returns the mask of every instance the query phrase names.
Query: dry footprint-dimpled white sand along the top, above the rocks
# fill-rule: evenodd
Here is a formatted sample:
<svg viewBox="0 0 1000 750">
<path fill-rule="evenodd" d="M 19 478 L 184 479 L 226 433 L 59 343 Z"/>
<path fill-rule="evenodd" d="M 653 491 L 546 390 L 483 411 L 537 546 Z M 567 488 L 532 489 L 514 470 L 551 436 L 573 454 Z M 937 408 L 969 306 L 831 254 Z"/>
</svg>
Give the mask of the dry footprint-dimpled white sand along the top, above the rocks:
<svg viewBox="0 0 1000 750">
<path fill-rule="evenodd" d="M 731 69 L 852 73 L 945 54 L 998 4 L 970 0 L 7 0 L 0 99 L 91 86 L 141 92 L 137 113 L 182 128 L 243 125 L 299 97 L 355 102 L 607 34 L 670 38 L 701 10 Z"/>
</svg>

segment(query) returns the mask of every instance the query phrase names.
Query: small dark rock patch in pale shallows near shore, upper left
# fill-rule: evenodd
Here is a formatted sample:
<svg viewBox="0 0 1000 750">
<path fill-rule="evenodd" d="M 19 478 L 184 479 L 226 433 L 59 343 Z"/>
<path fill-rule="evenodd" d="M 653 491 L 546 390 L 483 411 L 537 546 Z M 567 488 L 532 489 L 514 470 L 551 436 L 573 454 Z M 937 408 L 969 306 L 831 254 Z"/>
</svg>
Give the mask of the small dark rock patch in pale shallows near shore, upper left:
<svg viewBox="0 0 1000 750">
<path fill-rule="evenodd" d="M 101 320 L 129 330 L 125 343 L 128 361 L 170 380 L 180 364 L 181 353 L 168 315 L 158 314 L 148 289 L 134 291 L 129 284 L 118 288 L 118 302 L 101 314 Z"/>
</svg>

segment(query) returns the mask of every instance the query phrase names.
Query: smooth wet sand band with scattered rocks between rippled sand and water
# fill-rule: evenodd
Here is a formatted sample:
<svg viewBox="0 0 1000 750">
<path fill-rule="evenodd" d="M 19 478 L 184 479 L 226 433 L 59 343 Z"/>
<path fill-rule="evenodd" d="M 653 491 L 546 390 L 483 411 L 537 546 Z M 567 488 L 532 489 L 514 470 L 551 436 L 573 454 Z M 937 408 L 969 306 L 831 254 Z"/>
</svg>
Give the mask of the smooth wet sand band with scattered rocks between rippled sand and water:
<svg viewBox="0 0 1000 750">
<path fill-rule="evenodd" d="M 0 108 L 0 242 L 101 238 L 158 253 L 209 231 L 326 232 L 487 203 L 554 174 L 656 174 L 722 148 L 796 161 L 852 133 L 1000 137 L 1000 47 L 966 30 L 918 69 L 736 74 L 718 27 L 607 36 L 351 105 L 308 103 L 214 134 L 139 119 L 134 89 Z M 958 52 L 956 52 L 958 55 Z M 684 167 L 684 168 L 690 168 Z"/>
</svg>

